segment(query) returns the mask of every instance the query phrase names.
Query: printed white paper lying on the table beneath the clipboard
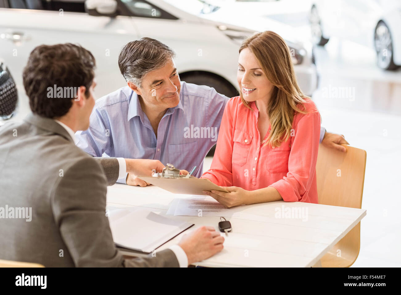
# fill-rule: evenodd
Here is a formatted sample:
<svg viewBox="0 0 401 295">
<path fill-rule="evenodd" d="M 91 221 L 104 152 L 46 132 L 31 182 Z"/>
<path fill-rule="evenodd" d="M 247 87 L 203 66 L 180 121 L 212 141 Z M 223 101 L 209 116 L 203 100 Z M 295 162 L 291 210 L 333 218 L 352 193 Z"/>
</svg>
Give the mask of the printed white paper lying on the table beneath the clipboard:
<svg viewBox="0 0 401 295">
<path fill-rule="evenodd" d="M 166 215 L 175 216 L 237 216 L 242 206 L 225 208 L 209 196 L 191 195 L 183 199 L 174 199 Z"/>
</svg>

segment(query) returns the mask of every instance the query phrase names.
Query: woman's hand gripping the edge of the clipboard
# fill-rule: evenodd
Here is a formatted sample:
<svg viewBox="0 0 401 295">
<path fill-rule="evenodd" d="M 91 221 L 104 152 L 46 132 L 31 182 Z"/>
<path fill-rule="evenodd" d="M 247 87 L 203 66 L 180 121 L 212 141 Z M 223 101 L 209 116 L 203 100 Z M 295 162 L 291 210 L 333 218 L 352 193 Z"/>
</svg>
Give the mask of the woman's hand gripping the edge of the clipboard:
<svg viewBox="0 0 401 295">
<path fill-rule="evenodd" d="M 203 193 L 205 193 L 206 195 L 210 195 L 226 208 L 245 204 L 249 197 L 250 191 L 242 189 L 241 187 L 230 186 L 223 188 L 229 191 L 229 193 L 215 190 L 203 191 Z"/>
</svg>

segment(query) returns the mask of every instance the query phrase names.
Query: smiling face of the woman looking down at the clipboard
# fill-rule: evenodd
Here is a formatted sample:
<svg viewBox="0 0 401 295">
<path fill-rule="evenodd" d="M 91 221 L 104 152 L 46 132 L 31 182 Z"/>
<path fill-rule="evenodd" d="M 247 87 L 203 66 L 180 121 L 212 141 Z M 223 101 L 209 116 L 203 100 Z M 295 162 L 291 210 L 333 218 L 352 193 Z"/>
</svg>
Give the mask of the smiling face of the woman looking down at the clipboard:
<svg viewBox="0 0 401 295">
<path fill-rule="evenodd" d="M 237 81 L 244 100 L 254 102 L 270 99 L 274 85 L 267 79 L 262 67 L 249 48 L 239 53 Z"/>
</svg>

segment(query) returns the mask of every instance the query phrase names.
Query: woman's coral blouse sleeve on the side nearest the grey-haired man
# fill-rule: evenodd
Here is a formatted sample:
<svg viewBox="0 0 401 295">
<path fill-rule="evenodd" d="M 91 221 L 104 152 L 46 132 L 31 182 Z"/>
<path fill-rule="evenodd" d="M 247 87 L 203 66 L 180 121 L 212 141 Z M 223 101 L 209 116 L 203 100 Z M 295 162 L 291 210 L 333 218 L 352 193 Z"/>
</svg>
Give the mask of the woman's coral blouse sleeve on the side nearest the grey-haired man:
<svg viewBox="0 0 401 295">
<path fill-rule="evenodd" d="M 231 102 L 231 103 L 230 103 Z M 215 155 L 210 169 L 201 178 L 207 178 L 219 186 L 233 185 L 232 155 L 233 155 L 233 117 L 229 100 L 223 112 Z"/>
</svg>

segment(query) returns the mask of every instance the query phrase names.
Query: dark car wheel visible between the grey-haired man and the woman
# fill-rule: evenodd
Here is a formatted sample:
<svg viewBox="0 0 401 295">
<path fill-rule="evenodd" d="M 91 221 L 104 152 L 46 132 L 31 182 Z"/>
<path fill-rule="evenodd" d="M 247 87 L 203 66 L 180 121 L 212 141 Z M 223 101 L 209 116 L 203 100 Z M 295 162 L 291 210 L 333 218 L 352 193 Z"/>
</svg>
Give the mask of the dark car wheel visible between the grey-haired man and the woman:
<svg viewBox="0 0 401 295">
<path fill-rule="evenodd" d="M 180 79 L 186 83 L 213 87 L 218 93 L 224 94 L 229 98 L 239 95 L 237 89 L 231 83 L 214 74 L 193 72 L 180 75 Z"/>
</svg>

